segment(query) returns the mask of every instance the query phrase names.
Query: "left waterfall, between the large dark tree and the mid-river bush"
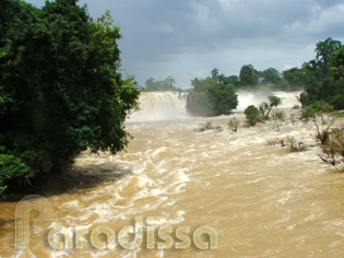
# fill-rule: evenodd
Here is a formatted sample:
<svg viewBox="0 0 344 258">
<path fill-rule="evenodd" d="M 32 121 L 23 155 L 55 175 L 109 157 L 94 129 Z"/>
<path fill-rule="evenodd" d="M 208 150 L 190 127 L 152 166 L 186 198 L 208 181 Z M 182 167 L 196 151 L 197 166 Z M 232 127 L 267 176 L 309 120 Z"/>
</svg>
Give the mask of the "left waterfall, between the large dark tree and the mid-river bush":
<svg viewBox="0 0 344 258">
<path fill-rule="evenodd" d="M 129 115 L 128 121 L 176 120 L 187 117 L 187 93 L 142 92 L 139 112 Z"/>
</svg>

